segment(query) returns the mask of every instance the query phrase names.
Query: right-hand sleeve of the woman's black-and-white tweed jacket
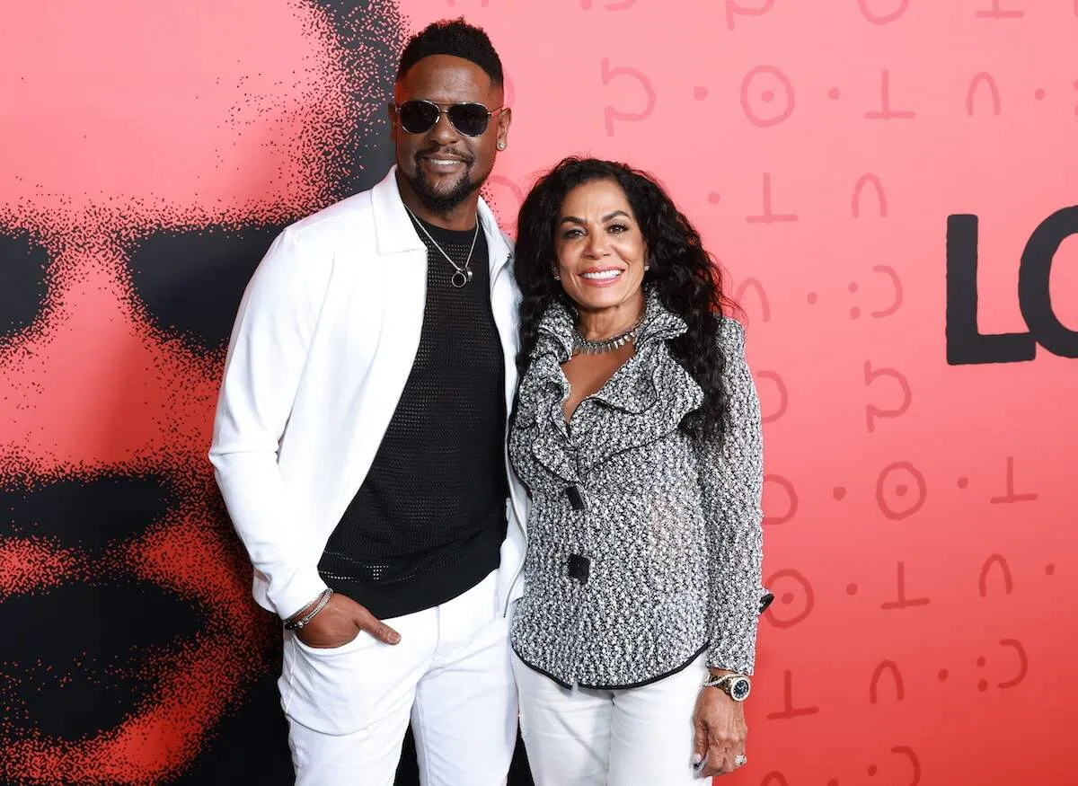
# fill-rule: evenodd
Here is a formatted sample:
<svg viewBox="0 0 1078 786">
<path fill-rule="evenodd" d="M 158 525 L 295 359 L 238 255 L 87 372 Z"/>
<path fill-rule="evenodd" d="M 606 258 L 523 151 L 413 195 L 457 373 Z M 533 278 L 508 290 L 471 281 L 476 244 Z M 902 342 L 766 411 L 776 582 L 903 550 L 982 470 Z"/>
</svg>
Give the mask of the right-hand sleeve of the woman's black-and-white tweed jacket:
<svg viewBox="0 0 1078 786">
<path fill-rule="evenodd" d="M 719 340 L 729 405 L 722 441 L 702 449 L 701 482 L 711 560 L 707 665 L 751 674 L 760 611 L 763 440 L 760 401 L 745 359 L 745 331 L 722 318 Z"/>
</svg>

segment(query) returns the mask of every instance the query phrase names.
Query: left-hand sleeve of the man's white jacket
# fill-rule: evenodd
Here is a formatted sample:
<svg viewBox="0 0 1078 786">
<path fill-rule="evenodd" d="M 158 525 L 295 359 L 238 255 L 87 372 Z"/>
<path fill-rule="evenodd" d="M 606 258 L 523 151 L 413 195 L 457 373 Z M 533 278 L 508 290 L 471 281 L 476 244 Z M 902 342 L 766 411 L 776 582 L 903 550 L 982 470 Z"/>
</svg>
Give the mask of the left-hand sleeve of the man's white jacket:
<svg viewBox="0 0 1078 786">
<path fill-rule="evenodd" d="M 326 588 L 303 556 L 303 519 L 277 451 L 329 282 L 329 263 L 303 259 L 293 229 L 274 240 L 244 292 L 229 344 L 209 459 L 233 526 L 287 618 Z"/>
</svg>

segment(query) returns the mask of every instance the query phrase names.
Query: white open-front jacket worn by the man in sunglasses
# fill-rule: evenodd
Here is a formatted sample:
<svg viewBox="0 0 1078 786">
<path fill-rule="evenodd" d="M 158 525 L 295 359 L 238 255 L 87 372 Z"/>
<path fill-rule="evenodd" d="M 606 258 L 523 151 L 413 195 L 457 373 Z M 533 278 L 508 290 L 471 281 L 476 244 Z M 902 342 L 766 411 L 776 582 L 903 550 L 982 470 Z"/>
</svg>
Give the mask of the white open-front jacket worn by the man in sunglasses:
<svg viewBox="0 0 1078 786">
<path fill-rule="evenodd" d="M 254 598 L 282 618 L 326 588 L 318 561 L 367 477 L 419 346 L 427 247 L 395 175 L 278 235 L 247 286 L 229 344 L 209 459 L 254 567 Z M 511 242 L 482 201 L 479 211 L 508 413 L 520 292 Z M 527 512 L 508 457 L 506 472 L 503 609 L 521 594 Z"/>
</svg>

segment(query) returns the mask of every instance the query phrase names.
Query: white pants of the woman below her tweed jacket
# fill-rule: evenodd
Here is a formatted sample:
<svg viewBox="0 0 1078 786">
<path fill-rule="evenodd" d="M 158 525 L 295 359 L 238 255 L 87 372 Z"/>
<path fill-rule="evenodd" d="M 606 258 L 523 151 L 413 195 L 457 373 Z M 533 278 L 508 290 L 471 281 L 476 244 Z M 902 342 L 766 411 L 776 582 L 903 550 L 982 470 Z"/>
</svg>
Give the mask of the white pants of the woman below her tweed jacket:
<svg viewBox="0 0 1078 786">
<path fill-rule="evenodd" d="M 701 656 L 640 688 L 563 688 L 515 654 L 521 735 L 536 786 L 680 786 L 692 769 Z"/>
</svg>

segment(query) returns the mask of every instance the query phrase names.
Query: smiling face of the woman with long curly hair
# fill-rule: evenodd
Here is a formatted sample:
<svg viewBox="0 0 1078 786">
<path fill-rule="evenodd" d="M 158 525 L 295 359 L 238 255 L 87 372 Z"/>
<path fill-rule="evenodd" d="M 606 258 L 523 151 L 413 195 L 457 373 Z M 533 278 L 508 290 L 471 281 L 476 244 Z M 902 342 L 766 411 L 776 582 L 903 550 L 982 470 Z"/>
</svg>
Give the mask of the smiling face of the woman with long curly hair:
<svg viewBox="0 0 1078 786">
<path fill-rule="evenodd" d="M 625 192 L 613 180 L 578 185 L 554 227 L 562 288 L 581 311 L 638 313 L 648 249 Z"/>
</svg>

